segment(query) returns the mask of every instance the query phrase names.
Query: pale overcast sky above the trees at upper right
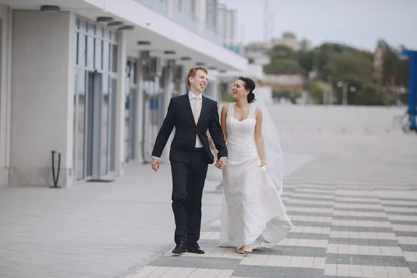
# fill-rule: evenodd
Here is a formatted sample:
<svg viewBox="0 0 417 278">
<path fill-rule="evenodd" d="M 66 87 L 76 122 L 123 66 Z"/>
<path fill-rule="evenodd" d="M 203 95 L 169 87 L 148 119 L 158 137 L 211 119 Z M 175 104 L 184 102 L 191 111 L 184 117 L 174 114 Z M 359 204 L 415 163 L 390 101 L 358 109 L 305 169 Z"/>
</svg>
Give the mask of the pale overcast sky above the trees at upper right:
<svg viewBox="0 0 417 278">
<path fill-rule="evenodd" d="M 264 2 L 220 0 L 238 10 L 239 42 L 263 40 Z M 268 10 L 269 19 L 274 15 L 269 38 L 291 31 L 314 46 L 332 41 L 368 50 L 384 38 L 417 50 L 417 0 L 269 0 Z"/>
</svg>

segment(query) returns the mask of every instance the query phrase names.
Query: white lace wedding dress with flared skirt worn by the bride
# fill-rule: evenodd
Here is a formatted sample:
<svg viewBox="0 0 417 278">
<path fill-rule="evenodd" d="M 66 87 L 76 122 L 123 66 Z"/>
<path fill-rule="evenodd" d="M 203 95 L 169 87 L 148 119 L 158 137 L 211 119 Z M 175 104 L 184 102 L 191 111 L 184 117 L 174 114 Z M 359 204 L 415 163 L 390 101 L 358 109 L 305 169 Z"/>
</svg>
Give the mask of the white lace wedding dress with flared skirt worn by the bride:
<svg viewBox="0 0 417 278">
<path fill-rule="evenodd" d="M 279 191 L 270 179 L 254 140 L 256 106 L 251 104 L 249 117 L 234 118 L 234 104 L 227 112 L 227 164 L 223 174 L 223 204 L 220 246 L 252 245 L 273 247 L 293 228 Z M 268 156 L 268 154 L 266 154 Z"/>
</svg>

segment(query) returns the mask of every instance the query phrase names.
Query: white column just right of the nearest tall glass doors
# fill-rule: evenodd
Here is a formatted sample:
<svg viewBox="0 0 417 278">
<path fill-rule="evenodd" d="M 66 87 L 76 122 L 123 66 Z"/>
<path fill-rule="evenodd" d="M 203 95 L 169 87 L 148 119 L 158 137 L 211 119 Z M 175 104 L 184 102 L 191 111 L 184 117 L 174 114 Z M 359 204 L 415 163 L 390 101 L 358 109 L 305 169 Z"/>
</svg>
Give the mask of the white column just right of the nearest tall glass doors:
<svg viewBox="0 0 417 278">
<path fill-rule="evenodd" d="M 115 175 L 124 174 L 124 105 L 126 101 L 126 31 L 119 32 L 117 44 L 117 101 L 116 101 L 116 142 Z"/>
</svg>

